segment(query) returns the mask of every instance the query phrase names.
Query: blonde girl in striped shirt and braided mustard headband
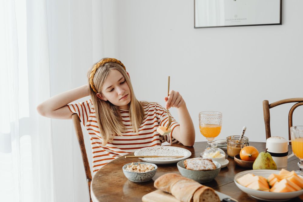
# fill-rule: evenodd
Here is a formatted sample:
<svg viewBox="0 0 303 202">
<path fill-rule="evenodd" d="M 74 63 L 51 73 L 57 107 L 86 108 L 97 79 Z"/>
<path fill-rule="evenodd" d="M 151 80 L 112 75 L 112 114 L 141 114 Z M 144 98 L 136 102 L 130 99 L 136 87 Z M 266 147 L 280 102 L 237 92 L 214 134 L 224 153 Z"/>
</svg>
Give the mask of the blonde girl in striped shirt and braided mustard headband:
<svg viewBox="0 0 303 202">
<path fill-rule="evenodd" d="M 68 104 L 88 95 L 90 100 Z M 88 85 L 55 95 L 39 104 L 37 110 L 42 116 L 58 119 L 78 114 L 91 138 L 95 174 L 113 159 L 143 147 L 164 141 L 193 146 L 195 130 L 182 96 L 170 91 L 164 100 L 165 108 L 178 109 L 180 124 L 171 117 L 171 132 L 162 136 L 157 128 L 168 124 L 166 109 L 138 101 L 121 61 L 103 58 L 88 71 Z"/>
</svg>

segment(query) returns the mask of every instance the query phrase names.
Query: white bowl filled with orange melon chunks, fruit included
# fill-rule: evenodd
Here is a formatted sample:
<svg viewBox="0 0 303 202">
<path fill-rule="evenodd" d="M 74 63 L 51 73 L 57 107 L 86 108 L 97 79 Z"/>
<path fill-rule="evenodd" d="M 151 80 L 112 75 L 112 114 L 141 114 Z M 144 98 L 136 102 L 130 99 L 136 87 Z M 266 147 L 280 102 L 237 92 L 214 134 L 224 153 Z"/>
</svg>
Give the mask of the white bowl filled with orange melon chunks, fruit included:
<svg viewBox="0 0 303 202">
<path fill-rule="evenodd" d="M 235 175 L 237 187 L 256 199 L 285 201 L 303 194 L 303 177 L 295 171 L 249 170 Z"/>
</svg>

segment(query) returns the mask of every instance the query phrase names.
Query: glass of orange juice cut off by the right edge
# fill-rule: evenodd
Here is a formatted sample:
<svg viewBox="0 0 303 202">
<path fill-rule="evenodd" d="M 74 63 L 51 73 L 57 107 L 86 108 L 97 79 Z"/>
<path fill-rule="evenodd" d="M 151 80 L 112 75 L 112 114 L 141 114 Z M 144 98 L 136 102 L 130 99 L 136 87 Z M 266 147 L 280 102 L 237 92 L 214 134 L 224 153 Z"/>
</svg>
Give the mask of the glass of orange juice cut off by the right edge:
<svg viewBox="0 0 303 202">
<path fill-rule="evenodd" d="M 303 176 L 303 126 L 290 127 L 290 135 L 292 152 L 300 159 L 298 162 L 300 170 L 296 173 Z"/>
</svg>

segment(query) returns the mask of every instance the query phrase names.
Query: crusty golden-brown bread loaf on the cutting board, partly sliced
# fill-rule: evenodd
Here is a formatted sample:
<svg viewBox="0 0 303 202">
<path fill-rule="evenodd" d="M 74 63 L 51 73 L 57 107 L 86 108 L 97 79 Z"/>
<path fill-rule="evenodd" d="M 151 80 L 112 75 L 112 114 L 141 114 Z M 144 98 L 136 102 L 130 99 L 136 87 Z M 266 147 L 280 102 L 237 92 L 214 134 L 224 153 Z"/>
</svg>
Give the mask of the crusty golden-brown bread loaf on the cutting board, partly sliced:
<svg viewBox="0 0 303 202">
<path fill-rule="evenodd" d="M 171 193 L 182 202 L 220 202 L 211 187 L 206 187 L 176 173 L 167 173 L 155 180 L 155 188 Z"/>
</svg>

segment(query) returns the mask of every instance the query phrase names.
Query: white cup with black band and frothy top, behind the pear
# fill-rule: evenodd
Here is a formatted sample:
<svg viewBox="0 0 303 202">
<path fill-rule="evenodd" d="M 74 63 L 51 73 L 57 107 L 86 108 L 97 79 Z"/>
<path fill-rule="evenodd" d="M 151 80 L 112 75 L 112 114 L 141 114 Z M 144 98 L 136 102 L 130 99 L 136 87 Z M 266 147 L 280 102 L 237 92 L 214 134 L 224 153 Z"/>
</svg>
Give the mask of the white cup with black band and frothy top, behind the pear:
<svg viewBox="0 0 303 202">
<path fill-rule="evenodd" d="M 277 168 L 287 167 L 287 159 L 294 154 L 288 155 L 288 140 L 283 137 L 269 137 L 266 140 L 267 152 L 277 164 Z M 288 155 L 288 156 L 287 156 Z"/>
</svg>

